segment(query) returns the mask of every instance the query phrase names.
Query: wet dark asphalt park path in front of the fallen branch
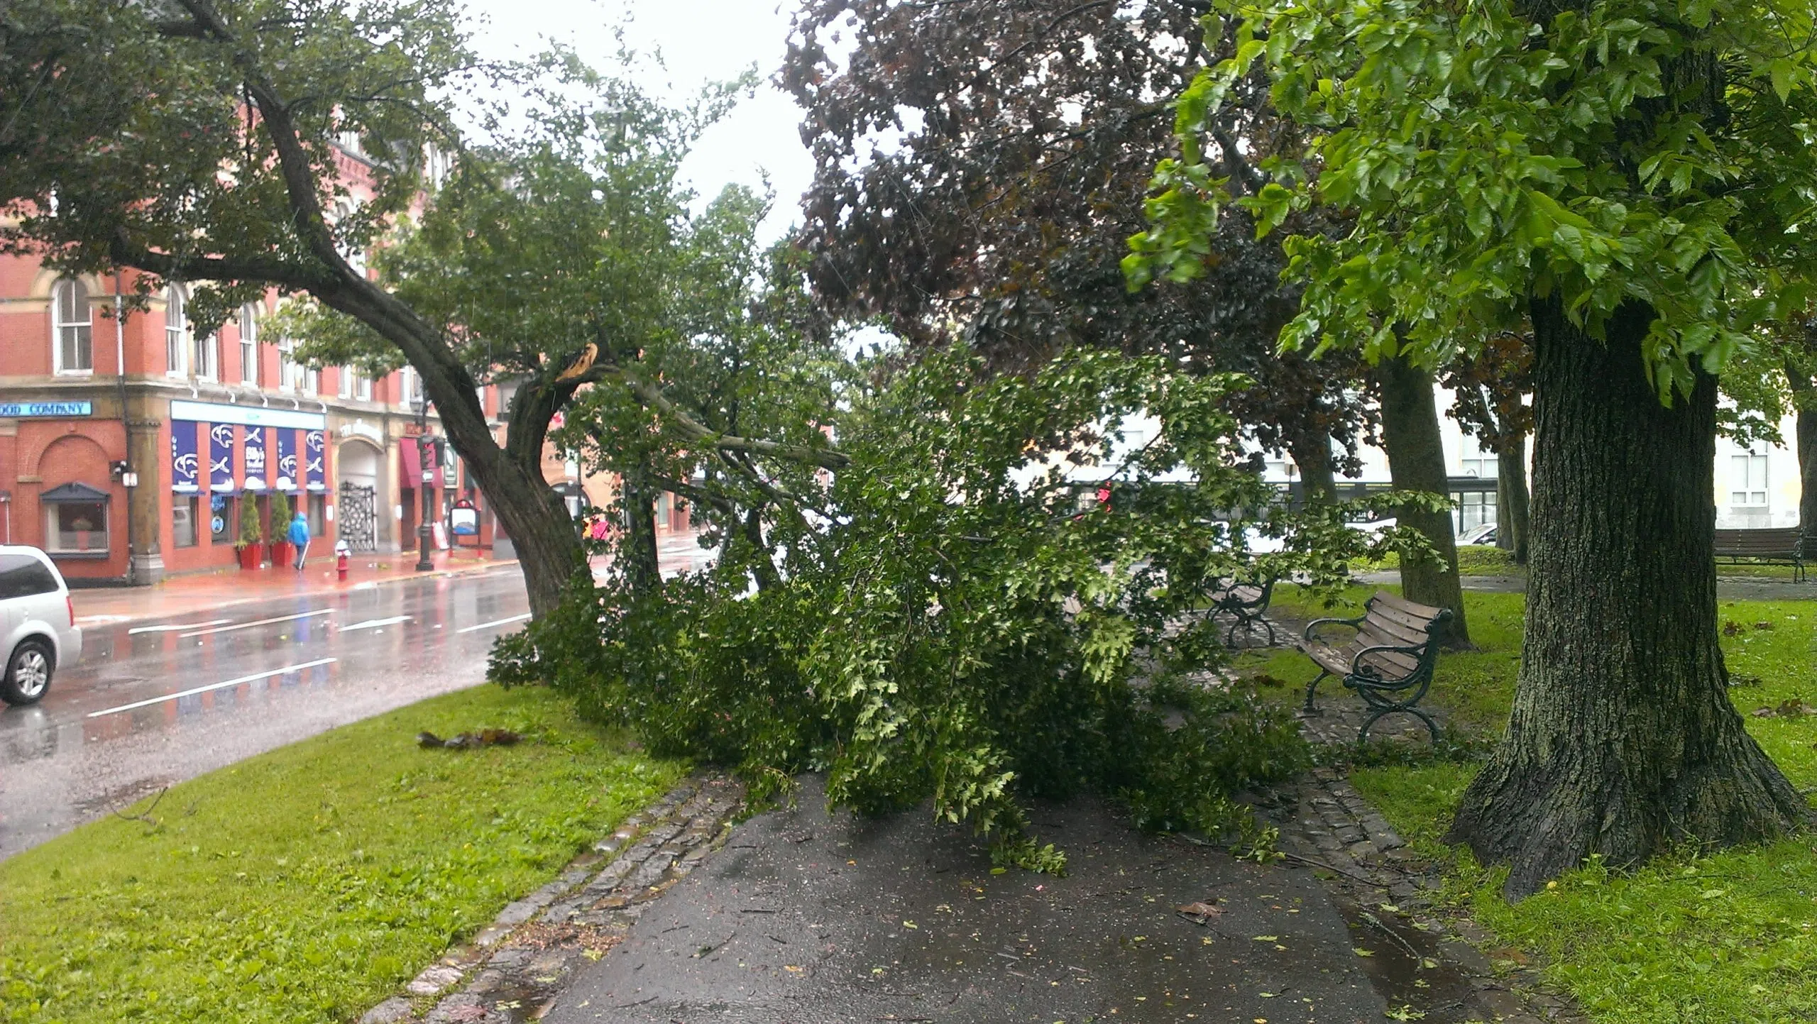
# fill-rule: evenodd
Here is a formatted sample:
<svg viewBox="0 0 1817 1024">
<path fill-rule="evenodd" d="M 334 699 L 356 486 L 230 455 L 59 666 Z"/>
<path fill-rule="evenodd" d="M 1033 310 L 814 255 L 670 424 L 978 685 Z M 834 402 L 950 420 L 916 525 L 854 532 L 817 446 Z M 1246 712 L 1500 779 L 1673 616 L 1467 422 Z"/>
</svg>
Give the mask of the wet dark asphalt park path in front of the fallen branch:
<svg viewBox="0 0 1817 1024">
<path fill-rule="evenodd" d="M 1067 877 L 994 875 L 928 808 L 794 808 L 740 824 L 545 1024 L 1130 1024 L 1381 1020 L 1312 871 L 1143 837 L 1101 801 L 1034 808 Z M 1174 908 L 1217 908 L 1199 924 Z"/>
</svg>

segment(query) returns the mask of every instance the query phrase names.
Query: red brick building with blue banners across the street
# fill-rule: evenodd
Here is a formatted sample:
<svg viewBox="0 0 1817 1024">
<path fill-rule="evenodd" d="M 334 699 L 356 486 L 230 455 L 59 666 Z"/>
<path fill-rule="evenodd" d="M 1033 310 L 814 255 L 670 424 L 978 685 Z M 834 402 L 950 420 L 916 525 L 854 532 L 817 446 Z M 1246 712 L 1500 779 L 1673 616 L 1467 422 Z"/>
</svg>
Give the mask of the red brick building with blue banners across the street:
<svg viewBox="0 0 1817 1024">
<path fill-rule="evenodd" d="M 274 296 L 216 330 L 189 321 L 180 283 L 118 318 L 133 280 L 0 260 L 0 541 L 45 548 L 73 581 L 153 583 L 233 566 L 242 507 L 269 523 L 282 492 L 307 514 L 314 557 L 342 537 L 358 552 L 414 546 L 411 370 L 293 363 L 262 329 Z M 492 387 L 483 399 L 496 418 Z M 443 516 L 467 496 L 445 447 L 432 485 Z M 491 543 L 480 521 L 458 541 Z"/>
</svg>

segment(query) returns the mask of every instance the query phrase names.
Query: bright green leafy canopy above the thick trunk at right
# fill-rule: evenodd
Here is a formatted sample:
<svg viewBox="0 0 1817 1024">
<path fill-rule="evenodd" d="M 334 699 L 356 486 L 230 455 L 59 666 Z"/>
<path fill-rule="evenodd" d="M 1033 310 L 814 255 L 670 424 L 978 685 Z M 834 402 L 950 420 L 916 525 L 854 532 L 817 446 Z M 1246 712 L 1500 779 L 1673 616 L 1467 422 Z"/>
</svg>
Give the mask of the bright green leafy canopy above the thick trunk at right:
<svg viewBox="0 0 1817 1024">
<path fill-rule="evenodd" d="M 1559 294 L 1592 336 L 1624 303 L 1663 401 L 1802 305 L 1817 211 L 1812 7 L 1801 0 L 1223 0 L 1234 54 L 1181 96 L 1132 285 L 1190 280 L 1228 202 L 1199 147 L 1256 62 L 1281 114 L 1317 129 L 1239 200 L 1263 231 L 1328 203 L 1343 234 L 1286 240 L 1305 281 L 1283 345 L 1443 361 Z M 1228 20 L 1225 20 L 1228 18 Z M 1721 67 L 1726 87 L 1708 93 Z M 1405 330 L 1397 334 L 1395 327 Z"/>
</svg>

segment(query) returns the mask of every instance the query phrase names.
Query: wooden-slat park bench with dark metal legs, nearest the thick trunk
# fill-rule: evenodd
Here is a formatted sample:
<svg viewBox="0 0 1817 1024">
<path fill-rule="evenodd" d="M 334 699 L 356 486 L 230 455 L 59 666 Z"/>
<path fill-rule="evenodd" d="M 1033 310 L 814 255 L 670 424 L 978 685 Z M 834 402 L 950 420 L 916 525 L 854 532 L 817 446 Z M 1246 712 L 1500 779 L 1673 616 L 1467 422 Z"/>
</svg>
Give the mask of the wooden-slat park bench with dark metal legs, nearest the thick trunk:
<svg viewBox="0 0 1817 1024">
<path fill-rule="evenodd" d="M 1452 621 L 1450 608 L 1432 608 L 1377 590 L 1355 619 L 1314 619 L 1306 623 L 1301 650 L 1319 666 L 1306 684 L 1306 712 L 1317 714 L 1312 695 L 1326 675 L 1343 679 L 1368 704 L 1370 715 L 1357 732 L 1368 739 L 1375 721 L 1406 712 L 1426 723 L 1432 741 L 1439 741 L 1439 723 L 1417 704 L 1432 688 L 1432 670 L 1439 663 L 1439 643 Z M 1348 639 L 1343 630 L 1352 630 Z"/>
</svg>

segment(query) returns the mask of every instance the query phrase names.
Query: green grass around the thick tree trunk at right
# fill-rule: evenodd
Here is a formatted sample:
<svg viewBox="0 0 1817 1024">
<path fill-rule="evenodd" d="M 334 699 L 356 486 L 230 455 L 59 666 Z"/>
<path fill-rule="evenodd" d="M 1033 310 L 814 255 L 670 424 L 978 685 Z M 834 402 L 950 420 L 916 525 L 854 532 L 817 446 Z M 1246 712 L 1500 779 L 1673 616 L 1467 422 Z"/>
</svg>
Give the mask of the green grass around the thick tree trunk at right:
<svg viewBox="0 0 1817 1024">
<path fill-rule="evenodd" d="M 1361 601 L 1361 588 L 1346 599 Z M 1299 601 L 1283 592 L 1286 610 Z M 1452 721 L 1494 737 L 1514 694 L 1519 594 L 1466 594 L 1472 654 L 1445 655 L 1432 690 Z M 1303 615 L 1316 608 L 1297 608 Z M 1724 601 L 1730 690 L 1746 715 L 1801 699 L 1817 704 L 1817 601 Z M 1321 612 L 1328 614 L 1328 612 Z M 1768 623 L 1770 628 L 1759 628 Z M 1252 659 L 1250 674 L 1305 683 L 1306 659 Z M 1281 694 L 1281 690 L 1272 690 Z M 1334 686 L 1323 699 L 1355 699 Z M 1748 730 L 1799 790 L 1817 790 L 1817 717 L 1757 719 Z M 1604 1024 L 1817 1020 L 1817 841 L 1697 855 L 1632 871 L 1588 866 L 1519 904 L 1501 899 L 1503 871 L 1439 842 L 1474 764 L 1357 768 L 1350 781 L 1417 850 L 1452 866 L 1448 897 L 1510 944 L 1544 953 L 1548 975 Z"/>
</svg>

